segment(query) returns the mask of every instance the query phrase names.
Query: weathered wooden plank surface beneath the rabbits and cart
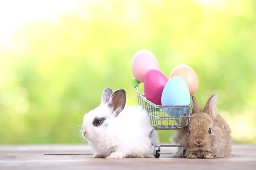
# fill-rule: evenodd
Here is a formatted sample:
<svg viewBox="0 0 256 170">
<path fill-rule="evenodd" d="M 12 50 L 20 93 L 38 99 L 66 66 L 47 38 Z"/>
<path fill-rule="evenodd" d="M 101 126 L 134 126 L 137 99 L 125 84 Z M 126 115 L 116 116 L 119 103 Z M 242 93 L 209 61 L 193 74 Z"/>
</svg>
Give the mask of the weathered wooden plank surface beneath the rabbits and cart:
<svg viewBox="0 0 256 170">
<path fill-rule="evenodd" d="M 236 156 L 175 159 L 175 147 L 161 147 L 159 159 L 93 159 L 87 145 L 0 145 L 0 170 L 256 170 L 256 145 L 233 146 Z"/>
</svg>

